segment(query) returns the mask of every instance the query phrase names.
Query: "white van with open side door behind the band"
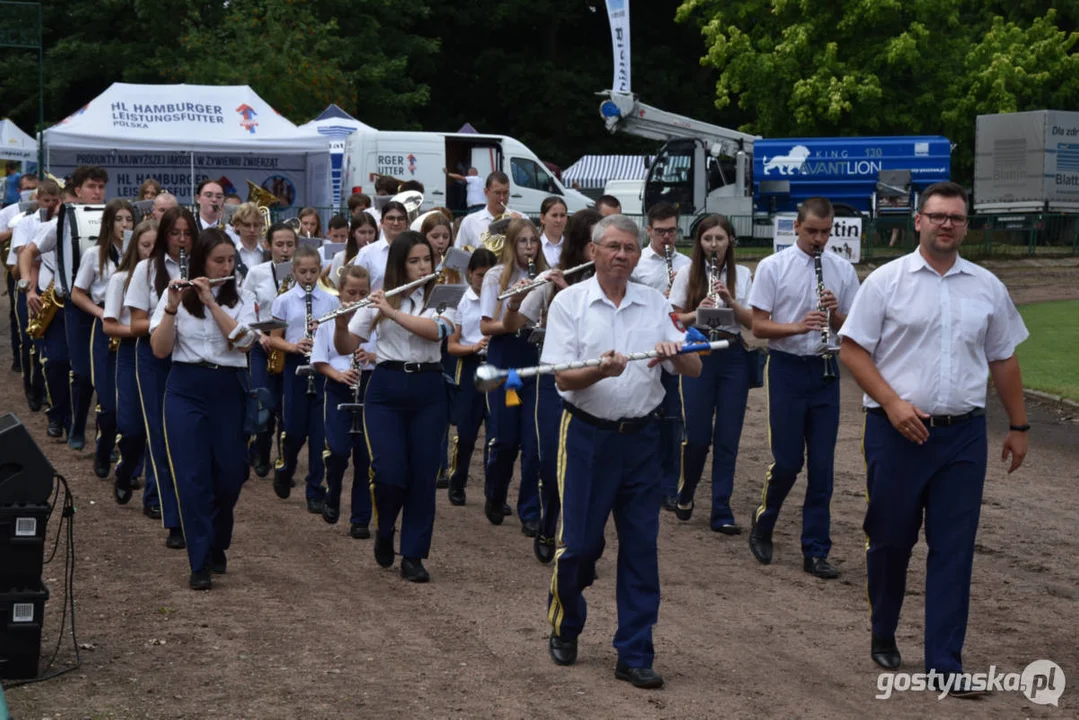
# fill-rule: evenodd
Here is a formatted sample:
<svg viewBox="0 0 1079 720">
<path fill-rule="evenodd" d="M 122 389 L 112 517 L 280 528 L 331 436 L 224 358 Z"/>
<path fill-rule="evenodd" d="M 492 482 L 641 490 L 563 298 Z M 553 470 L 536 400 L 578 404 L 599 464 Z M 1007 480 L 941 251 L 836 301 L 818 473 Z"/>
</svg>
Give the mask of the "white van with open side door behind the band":
<svg viewBox="0 0 1079 720">
<path fill-rule="evenodd" d="M 442 174 L 464 175 L 475 167 L 486 178 L 493 171 L 509 176 L 509 207 L 538 216 L 540 205 L 560 195 L 572 214 L 590 207 L 591 199 L 565 188 L 523 144 L 505 135 L 475 133 L 353 133 L 345 141 L 342 196 L 354 192 L 374 195 L 375 173 L 424 186 L 423 207 L 445 205 L 464 214 L 465 186 Z"/>
</svg>

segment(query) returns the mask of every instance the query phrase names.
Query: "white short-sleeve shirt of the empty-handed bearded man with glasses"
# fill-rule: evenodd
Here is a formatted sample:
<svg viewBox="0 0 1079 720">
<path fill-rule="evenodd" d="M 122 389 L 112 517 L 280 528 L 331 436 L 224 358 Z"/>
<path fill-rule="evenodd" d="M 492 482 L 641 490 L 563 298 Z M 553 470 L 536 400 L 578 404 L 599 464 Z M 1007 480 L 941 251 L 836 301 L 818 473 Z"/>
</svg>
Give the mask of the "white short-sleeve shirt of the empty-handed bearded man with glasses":
<svg viewBox="0 0 1079 720">
<path fill-rule="evenodd" d="M 985 407 L 989 363 L 1029 337 L 996 275 L 956 258 L 940 275 L 915 250 L 878 268 L 858 290 L 839 335 L 873 357 L 880 376 L 929 415 Z M 865 407 L 879 407 L 869 395 Z"/>
</svg>

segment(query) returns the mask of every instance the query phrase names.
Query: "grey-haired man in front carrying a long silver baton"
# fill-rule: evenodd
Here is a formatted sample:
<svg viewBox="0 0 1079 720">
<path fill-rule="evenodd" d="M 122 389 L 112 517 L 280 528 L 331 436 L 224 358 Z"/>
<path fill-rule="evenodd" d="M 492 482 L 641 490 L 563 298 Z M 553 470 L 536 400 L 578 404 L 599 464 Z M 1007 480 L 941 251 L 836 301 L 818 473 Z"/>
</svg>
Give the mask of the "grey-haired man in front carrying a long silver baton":
<svg viewBox="0 0 1079 720">
<path fill-rule="evenodd" d="M 585 624 L 582 592 L 592 584 L 603 529 L 618 529 L 618 651 L 615 677 L 658 688 L 652 669 L 652 626 L 659 615 L 659 429 L 664 398 L 659 364 L 697 376 L 700 357 L 679 355 L 681 331 L 659 293 L 629 276 L 641 257 L 638 228 L 618 215 L 592 229 L 596 276 L 555 296 L 547 315 L 544 364 L 602 358 L 597 367 L 559 372 L 564 403 L 559 439 L 562 528 L 548 596 L 548 651 L 559 665 L 577 657 Z M 628 363 L 626 354 L 655 349 L 659 357 Z"/>
</svg>

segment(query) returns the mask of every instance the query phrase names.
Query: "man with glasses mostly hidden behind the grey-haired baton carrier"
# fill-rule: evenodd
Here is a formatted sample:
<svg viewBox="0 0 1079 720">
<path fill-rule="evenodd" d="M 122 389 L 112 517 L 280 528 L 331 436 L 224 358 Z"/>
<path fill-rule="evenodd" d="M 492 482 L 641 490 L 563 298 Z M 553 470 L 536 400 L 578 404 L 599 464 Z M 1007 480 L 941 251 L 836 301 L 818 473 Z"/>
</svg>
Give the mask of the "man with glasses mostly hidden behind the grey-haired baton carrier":
<svg viewBox="0 0 1079 720">
<path fill-rule="evenodd" d="M 689 264 L 689 258 L 674 249 L 678 240 L 678 208 L 670 203 L 653 205 L 648 209 L 648 244 L 641 253 L 641 261 L 637 263 L 630 280 L 650 285 L 669 296 L 674 275 Z M 661 377 L 666 394 L 660 410 L 659 474 L 664 489 L 664 508 L 673 511 L 678 507 L 678 479 L 682 467 L 682 397 L 679 394 L 678 378 L 670 372 L 664 372 Z"/>
</svg>

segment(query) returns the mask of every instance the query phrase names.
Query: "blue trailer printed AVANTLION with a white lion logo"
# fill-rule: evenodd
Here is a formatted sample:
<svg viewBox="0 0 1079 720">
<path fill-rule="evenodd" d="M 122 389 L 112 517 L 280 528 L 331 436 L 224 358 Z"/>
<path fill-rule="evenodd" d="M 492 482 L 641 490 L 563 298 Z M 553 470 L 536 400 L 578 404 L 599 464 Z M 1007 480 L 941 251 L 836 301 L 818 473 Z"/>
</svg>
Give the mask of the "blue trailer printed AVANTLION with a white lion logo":
<svg viewBox="0 0 1079 720">
<path fill-rule="evenodd" d="M 910 214 L 917 195 L 951 179 L 946 137 L 807 137 L 753 144 L 753 209 L 793 213 L 822 195 L 874 217 Z"/>
</svg>

